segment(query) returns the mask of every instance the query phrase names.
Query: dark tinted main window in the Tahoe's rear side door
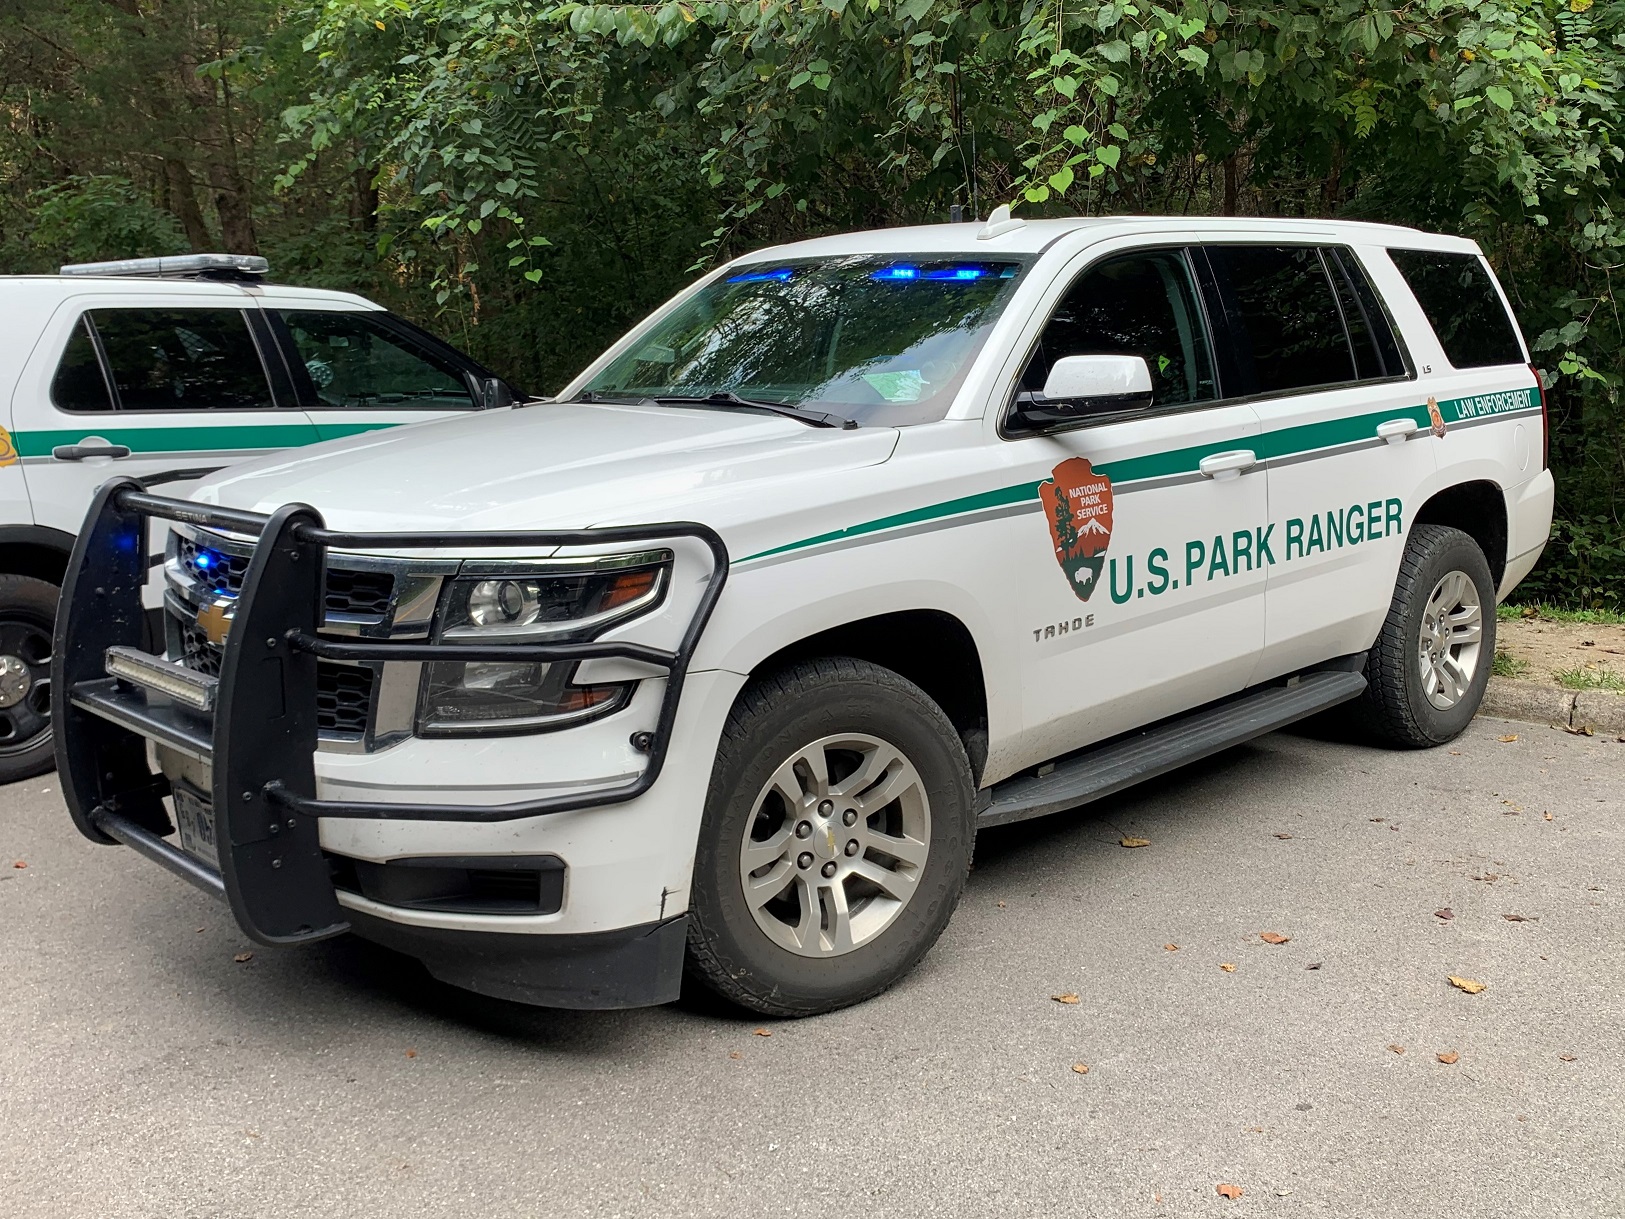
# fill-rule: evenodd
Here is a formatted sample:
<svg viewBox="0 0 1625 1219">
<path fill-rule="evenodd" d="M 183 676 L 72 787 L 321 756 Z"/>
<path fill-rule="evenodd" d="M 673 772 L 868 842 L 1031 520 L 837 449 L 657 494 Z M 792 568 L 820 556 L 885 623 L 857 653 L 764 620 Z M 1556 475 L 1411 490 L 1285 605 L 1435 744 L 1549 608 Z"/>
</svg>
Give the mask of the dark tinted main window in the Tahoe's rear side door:
<svg viewBox="0 0 1625 1219">
<path fill-rule="evenodd" d="M 1246 393 L 1357 379 L 1337 294 L 1313 245 L 1209 245 Z M 1248 385 L 1248 382 L 1251 382 Z"/>
</svg>

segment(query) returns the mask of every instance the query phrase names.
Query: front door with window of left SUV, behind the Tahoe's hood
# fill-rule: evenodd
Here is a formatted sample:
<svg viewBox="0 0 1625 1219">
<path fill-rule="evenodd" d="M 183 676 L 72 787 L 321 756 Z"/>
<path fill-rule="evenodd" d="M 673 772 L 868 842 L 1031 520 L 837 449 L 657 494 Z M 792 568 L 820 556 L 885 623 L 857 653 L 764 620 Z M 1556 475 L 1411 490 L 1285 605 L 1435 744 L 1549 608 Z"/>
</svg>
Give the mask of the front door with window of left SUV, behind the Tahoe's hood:
<svg viewBox="0 0 1625 1219">
<path fill-rule="evenodd" d="M 266 302 L 265 314 L 323 440 L 489 405 L 483 371 L 384 310 L 301 301 Z"/>
</svg>

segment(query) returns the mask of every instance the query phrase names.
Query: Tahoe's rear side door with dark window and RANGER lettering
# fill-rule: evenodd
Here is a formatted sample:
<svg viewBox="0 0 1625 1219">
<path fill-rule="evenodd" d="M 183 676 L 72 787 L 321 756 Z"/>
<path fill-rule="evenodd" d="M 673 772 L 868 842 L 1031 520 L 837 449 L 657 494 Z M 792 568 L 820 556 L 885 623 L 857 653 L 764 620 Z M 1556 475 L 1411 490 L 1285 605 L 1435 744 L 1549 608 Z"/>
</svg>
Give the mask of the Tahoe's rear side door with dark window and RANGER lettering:
<svg viewBox="0 0 1625 1219">
<path fill-rule="evenodd" d="M 1202 252 L 1227 384 L 1263 426 L 1272 528 L 1263 681 L 1370 647 L 1436 455 L 1424 395 L 1352 250 Z"/>
</svg>

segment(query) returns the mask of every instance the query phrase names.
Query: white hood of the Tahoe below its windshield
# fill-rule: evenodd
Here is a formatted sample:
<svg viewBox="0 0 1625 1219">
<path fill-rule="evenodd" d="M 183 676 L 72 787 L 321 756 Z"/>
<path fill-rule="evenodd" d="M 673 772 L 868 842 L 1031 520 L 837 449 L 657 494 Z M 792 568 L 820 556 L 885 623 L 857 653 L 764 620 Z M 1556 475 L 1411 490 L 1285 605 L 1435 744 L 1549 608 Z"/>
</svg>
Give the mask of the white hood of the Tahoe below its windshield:
<svg viewBox="0 0 1625 1219">
<path fill-rule="evenodd" d="M 192 497 L 315 507 L 356 531 L 720 525 L 759 483 L 879 465 L 892 427 L 808 427 L 756 411 L 546 403 L 388 427 L 231 466 Z M 734 515 L 734 514 L 728 514 Z"/>
</svg>

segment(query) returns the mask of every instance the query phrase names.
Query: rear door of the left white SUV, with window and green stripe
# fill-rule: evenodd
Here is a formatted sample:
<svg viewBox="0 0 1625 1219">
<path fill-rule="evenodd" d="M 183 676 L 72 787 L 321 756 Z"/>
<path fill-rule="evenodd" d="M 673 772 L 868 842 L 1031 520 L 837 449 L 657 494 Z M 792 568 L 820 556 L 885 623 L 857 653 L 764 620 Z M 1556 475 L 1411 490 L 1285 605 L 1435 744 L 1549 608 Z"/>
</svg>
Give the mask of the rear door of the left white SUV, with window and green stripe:
<svg viewBox="0 0 1625 1219">
<path fill-rule="evenodd" d="M 78 533 L 109 478 L 229 465 L 315 440 L 247 301 L 86 294 L 63 302 L 13 400 L 34 520 Z"/>
</svg>

